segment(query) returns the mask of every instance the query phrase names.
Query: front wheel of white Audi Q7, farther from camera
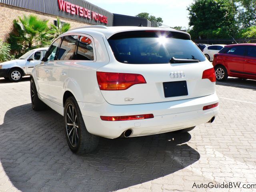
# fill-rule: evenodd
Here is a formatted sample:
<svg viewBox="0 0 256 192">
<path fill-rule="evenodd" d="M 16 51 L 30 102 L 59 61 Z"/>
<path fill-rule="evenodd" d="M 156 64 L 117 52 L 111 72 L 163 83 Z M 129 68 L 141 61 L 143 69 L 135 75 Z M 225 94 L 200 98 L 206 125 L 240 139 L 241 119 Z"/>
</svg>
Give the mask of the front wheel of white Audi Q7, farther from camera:
<svg viewBox="0 0 256 192">
<path fill-rule="evenodd" d="M 41 111 L 47 108 L 47 105 L 38 98 L 36 85 L 33 78 L 30 79 L 30 98 L 33 110 Z"/>
</svg>

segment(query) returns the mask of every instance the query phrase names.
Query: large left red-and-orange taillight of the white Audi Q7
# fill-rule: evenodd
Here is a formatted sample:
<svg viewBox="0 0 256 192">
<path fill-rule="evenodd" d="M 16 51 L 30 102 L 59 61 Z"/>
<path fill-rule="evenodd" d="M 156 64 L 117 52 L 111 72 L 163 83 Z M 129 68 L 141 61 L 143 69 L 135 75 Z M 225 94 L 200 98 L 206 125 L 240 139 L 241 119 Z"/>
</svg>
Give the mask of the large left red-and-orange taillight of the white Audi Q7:
<svg viewBox="0 0 256 192">
<path fill-rule="evenodd" d="M 146 83 L 140 74 L 97 72 L 100 90 L 126 90 L 135 84 Z"/>
</svg>

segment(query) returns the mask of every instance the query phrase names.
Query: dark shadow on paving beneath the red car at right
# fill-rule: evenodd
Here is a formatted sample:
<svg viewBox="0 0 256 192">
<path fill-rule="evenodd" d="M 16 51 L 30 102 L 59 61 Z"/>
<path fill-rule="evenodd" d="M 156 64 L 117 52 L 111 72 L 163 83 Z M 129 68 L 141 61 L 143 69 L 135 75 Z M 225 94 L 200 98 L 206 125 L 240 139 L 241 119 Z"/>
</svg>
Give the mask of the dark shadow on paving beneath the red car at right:
<svg viewBox="0 0 256 192">
<path fill-rule="evenodd" d="M 256 80 L 250 79 L 228 78 L 225 82 L 216 81 L 216 85 L 252 89 L 256 91 Z"/>
</svg>

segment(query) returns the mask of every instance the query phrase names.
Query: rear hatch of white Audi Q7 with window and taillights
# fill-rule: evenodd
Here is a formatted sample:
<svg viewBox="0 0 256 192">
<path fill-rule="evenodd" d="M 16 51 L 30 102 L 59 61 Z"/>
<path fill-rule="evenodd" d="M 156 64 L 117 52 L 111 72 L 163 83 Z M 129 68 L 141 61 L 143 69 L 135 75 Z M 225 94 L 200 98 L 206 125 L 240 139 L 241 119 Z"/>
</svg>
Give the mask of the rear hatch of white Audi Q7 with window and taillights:
<svg viewBox="0 0 256 192">
<path fill-rule="evenodd" d="M 187 33 L 127 31 L 114 34 L 108 43 L 115 60 L 98 69 L 97 80 L 110 104 L 165 102 L 214 93 L 214 70 L 208 70 L 210 63 Z"/>
</svg>

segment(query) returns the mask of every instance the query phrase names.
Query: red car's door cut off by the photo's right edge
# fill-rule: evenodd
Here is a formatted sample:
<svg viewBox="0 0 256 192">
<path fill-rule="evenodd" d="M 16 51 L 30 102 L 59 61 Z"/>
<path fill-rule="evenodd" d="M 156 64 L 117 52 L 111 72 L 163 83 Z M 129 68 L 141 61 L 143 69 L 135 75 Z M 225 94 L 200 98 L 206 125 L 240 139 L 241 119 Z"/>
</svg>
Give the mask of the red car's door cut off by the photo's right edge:
<svg viewBox="0 0 256 192">
<path fill-rule="evenodd" d="M 253 75 L 256 78 L 256 46 L 246 47 L 244 58 L 244 73 Z"/>
</svg>

